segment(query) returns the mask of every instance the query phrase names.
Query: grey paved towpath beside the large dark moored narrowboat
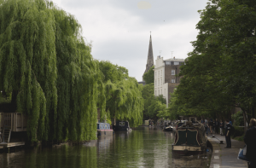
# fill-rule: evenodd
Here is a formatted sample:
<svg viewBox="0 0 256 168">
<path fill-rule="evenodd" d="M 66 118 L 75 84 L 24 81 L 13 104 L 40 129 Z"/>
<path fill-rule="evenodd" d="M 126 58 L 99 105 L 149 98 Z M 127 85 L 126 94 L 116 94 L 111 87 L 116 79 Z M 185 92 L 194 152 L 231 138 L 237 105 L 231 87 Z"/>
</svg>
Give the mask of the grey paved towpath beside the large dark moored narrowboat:
<svg viewBox="0 0 256 168">
<path fill-rule="evenodd" d="M 212 159 L 210 168 L 247 168 L 247 162 L 237 159 L 240 148 L 245 143 L 231 139 L 231 148 L 225 148 L 225 136 L 208 136 L 208 141 L 212 144 Z M 223 141 L 224 144 L 220 144 Z"/>
</svg>

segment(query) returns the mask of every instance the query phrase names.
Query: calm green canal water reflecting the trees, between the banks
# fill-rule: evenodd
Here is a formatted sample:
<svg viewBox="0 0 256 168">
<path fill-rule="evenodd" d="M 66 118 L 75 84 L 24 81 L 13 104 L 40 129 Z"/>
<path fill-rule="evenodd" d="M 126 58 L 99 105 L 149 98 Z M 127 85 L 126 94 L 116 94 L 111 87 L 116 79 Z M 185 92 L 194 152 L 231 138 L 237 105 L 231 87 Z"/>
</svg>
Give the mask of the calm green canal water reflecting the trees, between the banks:
<svg viewBox="0 0 256 168">
<path fill-rule="evenodd" d="M 84 145 L 39 147 L 0 154 L 0 167 L 209 167 L 211 153 L 178 156 L 172 154 L 173 141 L 172 132 L 138 127 L 131 132 L 115 132 L 113 137 Z"/>
</svg>

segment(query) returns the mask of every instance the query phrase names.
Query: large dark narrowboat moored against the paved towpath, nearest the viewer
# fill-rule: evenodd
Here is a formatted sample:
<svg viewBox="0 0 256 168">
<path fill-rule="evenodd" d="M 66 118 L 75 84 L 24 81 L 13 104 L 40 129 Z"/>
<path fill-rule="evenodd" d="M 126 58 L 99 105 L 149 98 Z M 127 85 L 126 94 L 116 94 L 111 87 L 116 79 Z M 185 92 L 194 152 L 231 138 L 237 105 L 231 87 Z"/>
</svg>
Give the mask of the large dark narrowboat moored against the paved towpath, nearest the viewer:
<svg viewBox="0 0 256 168">
<path fill-rule="evenodd" d="M 177 128 L 172 152 L 180 155 L 202 154 L 207 148 L 204 125 L 187 122 Z"/>
</svg>

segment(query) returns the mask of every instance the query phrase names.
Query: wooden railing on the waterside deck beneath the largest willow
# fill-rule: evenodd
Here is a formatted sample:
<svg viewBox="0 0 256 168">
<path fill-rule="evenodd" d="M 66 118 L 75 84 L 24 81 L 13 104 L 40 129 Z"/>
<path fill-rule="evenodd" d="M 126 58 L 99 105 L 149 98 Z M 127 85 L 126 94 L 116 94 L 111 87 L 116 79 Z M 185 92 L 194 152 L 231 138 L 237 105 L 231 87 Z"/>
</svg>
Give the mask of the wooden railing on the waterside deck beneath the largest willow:
<svg viewBox="0 0 256 168">
<path fill-rule="evenodd" d="M 26 131 L 27 119 L 22 113 L 0 113 L 0 131 L 10 128 L 11 131 Z"/>
</svg>

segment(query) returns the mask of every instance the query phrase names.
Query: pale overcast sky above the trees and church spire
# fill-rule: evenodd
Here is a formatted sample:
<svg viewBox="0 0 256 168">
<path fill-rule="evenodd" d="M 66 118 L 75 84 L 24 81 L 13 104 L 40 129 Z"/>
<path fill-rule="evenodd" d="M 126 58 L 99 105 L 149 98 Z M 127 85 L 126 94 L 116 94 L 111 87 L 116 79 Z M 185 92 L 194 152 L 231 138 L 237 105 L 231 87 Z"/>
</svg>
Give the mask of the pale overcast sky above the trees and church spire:
<svg viewBox="0 0 256 168">
<path fill-rule="evenodd" d="M 196 40 L 198 10 L 207 0 L 52 0 L 73 14 L 92 44 L 91 55 L 129 70 L 142 81 L 148 58 L 150 32 L 154 60 L 186 58 Z M 173 52 L 172 52 L 173 51 Z"/>
</svg>

